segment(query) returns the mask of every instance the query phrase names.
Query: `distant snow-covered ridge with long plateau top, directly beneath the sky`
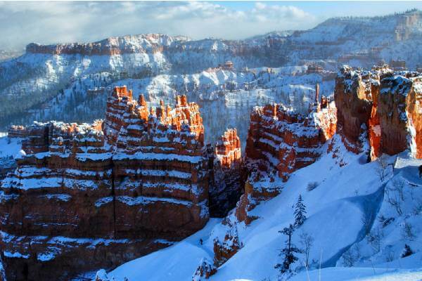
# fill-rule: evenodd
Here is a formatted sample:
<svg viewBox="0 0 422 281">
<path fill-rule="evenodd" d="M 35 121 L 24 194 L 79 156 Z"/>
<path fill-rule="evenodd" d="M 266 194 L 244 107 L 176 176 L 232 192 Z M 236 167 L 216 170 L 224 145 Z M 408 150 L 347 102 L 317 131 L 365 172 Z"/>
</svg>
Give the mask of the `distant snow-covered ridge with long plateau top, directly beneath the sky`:
<svg viewBox="0 0 422 281">
<path fill-rule="evenodd" d="M 332 62 L 338 58 L 342 58 L 341 63 L 366 67 L 380 60 L 390 62 L 400 58 L 406 60 L 407 67 L 413 70 L 421 61 L 418 56 L 409 54 L 418 53 L 421 30 L 421 12 L 409 11 L 385 17 L 334 18 L 312 30 L 292 34 L 273 33 L 243 41 L 191 41 L 184 37 L 169 37 L 163 34 L 141 34 L 89 44 L 31 45 L 29 50 L 35 48 L 39 52 L 27 52 L 0 65 L 1 104 L 11 103 L 12 96 L 18 99 L 16 103 L 13 102 L 15 106 L 1 108 L 4 119 L 0 126 L 5 128 L 11 123 L 27 124 L 31 119 L 28 115 L 49 107 L 48 104 L 59 99 L 72 82 L 104 72 L 110 75 L 108 81 L 98 82 L 103 87 L 126 78 L 157 77 L 172 81 L 171 77 L 165 76 L 200 73 L 209 67 L 218 67 L 227 60 L 234 63 L 237 71 L 243 67 L 294 68 L 295 65 L 311 62 L 331 65 L 328 69 L 333 70 L 339 65 Z M 60 53 L 62 51 L 64 53 Z M 60 54 L 53 55 L 51 52 Z M 161 74 L 164 76 L 160 78 Z M 204 81 L 201 83 L 207 84 Z M 84 95 L 74 90 L 77 93 L 75 96 Z M 30 99 L 27 98 L 29 96 Z M 63 101 L 65 104 L 62 106 L 68 107 L 70 112 L 66 121 L 79 119 L 83 107 L 78 105 L 91 103 L 86 98 L 75 96 L 71 100 Z M 208 93 L 204 96 L 208 98 Z M 215 99 L 215 96 L 210 98 Z M 158 100 L 159 98 L 155 102 Z M 95 107 L 96 102 L 92 102 L 92 105 Z M 103 110 L 92 114 L 96 114 L 94 118 L 99 118 L 103 117 L 101 112 Z M 56 117 L 46 117 L 51 118 Z M 215 132 L 215 136 L 217 138 L 219 133 Z M 245 139 L 245 136 L 241 138 Z"/>
</svg>

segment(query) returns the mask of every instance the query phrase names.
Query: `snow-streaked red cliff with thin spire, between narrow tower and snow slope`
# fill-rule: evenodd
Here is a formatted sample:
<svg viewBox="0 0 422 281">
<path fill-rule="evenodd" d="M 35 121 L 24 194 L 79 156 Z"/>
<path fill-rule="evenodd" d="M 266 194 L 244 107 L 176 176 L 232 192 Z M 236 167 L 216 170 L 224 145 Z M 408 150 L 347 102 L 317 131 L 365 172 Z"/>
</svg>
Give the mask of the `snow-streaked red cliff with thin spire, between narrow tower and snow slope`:
<svg viewBox="0 0 422 281">
<path fill-rule="evenodd" d="M 250 116 L 245 148 L 245 170 L 248 180 L 245 194 L 236 209 L 239 221 L 250 223 L 248 214 L 261 200 L 279 194 L 277 178 L 287 181 L 295 170 L 312 164 L 321 154 L 320 148 L 335 133 L 335 105 L 325 97 L 309 115 L 300 115 L 283 105 L 255 107 Z"/>
</svg>

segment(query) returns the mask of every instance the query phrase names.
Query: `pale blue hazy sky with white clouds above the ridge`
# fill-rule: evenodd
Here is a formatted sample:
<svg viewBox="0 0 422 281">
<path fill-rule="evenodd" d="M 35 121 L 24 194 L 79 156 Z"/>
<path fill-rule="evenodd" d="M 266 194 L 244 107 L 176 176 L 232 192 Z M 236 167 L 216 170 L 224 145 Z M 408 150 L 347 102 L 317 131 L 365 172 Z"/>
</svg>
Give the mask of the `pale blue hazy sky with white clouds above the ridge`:
<svg viewBox="0 0 422 281">
<path fill-rule="evenodd" d="M 2 2 L 0 49 L 140 33 L 243 39 L 333 16 L 422 9 L 422 1 Z"/>
</svg>

